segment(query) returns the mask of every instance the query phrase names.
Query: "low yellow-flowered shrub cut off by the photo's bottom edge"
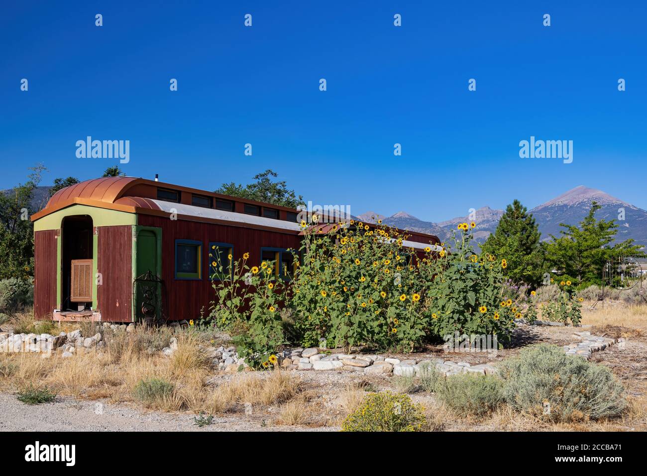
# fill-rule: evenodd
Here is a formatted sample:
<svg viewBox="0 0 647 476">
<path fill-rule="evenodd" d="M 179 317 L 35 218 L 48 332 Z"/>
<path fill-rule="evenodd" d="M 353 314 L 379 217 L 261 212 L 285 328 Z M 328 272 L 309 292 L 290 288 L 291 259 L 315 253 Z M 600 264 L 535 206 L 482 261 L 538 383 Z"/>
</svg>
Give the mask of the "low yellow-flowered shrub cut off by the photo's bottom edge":
<svg viewBox="0 0 647 476">
<path fill-rule="evenodd" d="M 342 431 L 422 431 L 426 424 L 421 405 L 404 394 L 370 394 L 342 423 Z"/>
</svg>

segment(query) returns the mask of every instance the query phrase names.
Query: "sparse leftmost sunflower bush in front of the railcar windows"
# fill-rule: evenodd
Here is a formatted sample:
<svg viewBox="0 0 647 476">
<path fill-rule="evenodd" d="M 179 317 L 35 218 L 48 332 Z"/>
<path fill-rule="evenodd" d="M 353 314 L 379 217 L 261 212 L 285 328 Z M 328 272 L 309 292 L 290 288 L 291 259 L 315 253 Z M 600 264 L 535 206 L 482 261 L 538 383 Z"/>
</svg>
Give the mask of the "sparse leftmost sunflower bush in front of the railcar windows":
<svg viewBox="0 0 647 476">
<path fill-rule="evenodd" d="M 285 343 L 279 313 L 285 285 L 276 280 L 273 262 L 249 267 L 248 257 L 245 253 L 241 260 L 232 260 L 232 255 L 222 256 L 214 247 L 210 277 L 217 299 L 207 321 L 223 330 L 242 324 L 246 332 L 232 338 L 238 355 L 250 367 L 270 368 L 276 363 L 276 350 Z"/>
</svg>

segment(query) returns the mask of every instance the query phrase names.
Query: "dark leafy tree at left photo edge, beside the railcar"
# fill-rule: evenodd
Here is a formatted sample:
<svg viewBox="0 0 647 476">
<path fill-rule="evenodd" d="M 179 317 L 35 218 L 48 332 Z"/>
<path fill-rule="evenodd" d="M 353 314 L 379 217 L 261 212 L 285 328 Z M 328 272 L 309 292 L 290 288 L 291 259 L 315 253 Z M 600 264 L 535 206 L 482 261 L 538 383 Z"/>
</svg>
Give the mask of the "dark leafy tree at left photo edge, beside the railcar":
<svg viewBox="0 0 647 476">
<path fill-rule="evenodd" d="M 24 184 L 0 193 L 0 279 L 29 278 L 34 270 L 34 227 L 29 217 L 34 189 L 47 169 L 38 164 Z"/>
</svg>

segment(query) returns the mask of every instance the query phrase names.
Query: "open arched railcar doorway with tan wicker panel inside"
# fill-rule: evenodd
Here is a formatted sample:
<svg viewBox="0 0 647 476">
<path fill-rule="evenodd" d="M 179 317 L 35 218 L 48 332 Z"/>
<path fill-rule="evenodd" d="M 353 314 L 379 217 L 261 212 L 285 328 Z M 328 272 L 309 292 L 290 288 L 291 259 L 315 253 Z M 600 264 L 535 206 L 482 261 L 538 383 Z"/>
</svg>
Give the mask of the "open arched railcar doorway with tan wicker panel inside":
<svg viewBox="0 0 647 476">
<path fill-rule="evenodd" d="M 93 221 L 66 216 L 61 225 L 61 310 L 89 310 L 93 302 Z"/>
</svg>

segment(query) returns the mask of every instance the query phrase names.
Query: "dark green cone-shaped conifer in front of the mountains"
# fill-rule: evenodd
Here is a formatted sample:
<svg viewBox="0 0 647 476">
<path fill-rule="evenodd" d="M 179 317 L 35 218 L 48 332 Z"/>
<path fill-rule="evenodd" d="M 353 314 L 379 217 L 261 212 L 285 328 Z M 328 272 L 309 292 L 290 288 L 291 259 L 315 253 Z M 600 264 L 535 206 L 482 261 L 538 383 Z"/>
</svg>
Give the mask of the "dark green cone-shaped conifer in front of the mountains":
<svg viewBox="0 0 647 476">
<path fill-rule="evenodd" d="M 542 276 L 541 233 L 532 214 L 514 200 L 508 205 L 494 233 L 481 246 L 484 253 L 505 258 L 505 275 L 516 284 L 536 284 Z"/>
</svg>

